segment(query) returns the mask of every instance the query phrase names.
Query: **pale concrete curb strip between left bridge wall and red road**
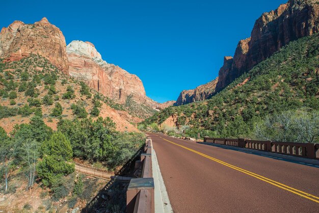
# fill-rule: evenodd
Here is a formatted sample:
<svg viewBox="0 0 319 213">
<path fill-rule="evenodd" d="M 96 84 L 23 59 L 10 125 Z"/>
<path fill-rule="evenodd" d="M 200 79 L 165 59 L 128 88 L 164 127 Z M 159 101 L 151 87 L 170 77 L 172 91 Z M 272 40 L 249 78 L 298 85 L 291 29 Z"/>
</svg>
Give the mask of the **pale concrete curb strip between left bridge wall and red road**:
<svg viewBox="0 0 319 213">
<path fill-rule="evenodd" d="M 155 200 L 155 213 L 171 213 L 173 212 L 168 194 L 166 191 L 164 179 L 157 162 L 155 150 L 152 149 L 152 165 L 153 178 L 154 178 L 154 200 Z M 157 189 L 157 190 L 156 190 Z"/>
</svg>

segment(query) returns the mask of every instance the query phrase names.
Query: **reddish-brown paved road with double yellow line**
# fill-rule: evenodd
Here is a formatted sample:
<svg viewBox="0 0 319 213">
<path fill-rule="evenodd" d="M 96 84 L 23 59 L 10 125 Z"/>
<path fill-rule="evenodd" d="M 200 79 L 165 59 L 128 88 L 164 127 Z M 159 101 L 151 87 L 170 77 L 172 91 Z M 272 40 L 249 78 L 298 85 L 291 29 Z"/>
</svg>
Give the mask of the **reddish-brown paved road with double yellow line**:
<svg viewBox="0 0 319 213">
<path fill-rule="evenodd" d="M 319 212 L 318 168 L 149 135 L 174 212 Z"/>
</svg>

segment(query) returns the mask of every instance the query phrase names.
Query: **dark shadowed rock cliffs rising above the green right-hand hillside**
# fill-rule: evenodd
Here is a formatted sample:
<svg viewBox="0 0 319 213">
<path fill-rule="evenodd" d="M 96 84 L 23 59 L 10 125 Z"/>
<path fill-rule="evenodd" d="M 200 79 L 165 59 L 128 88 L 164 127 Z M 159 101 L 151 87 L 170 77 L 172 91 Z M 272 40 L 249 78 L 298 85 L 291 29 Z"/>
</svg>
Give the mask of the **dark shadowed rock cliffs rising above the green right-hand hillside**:
<svg viewBox="0 0 319 213">
<path fill-rule="evenodd" d="M 274 11 L 263 13 L 256 20 L 251 36 L 238 42 L 234 57 L 225 57 L 224 65 L 219 70 L 215 90 L 211 90 L 209 94 L 204 90 L 202 94 L 196 94 L 196 97 L 195 91 L 187 92 L 187 94 L 183 91 L 176 104 L 202 100 L 199 97 L 204 99 L 205 96 L 211 97 L 290 41 L 317 32 L 319 32 L 318 1 L 289 0 Z M 205 85 L 200 87 L 205 87 Z"/>
</svg>

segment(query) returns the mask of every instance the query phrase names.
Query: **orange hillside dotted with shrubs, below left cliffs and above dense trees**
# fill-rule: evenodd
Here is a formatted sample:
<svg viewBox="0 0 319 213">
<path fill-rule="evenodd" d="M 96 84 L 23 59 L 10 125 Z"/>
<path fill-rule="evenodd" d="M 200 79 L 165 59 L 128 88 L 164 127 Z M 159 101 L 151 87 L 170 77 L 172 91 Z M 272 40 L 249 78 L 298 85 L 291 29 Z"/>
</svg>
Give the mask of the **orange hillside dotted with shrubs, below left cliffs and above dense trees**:
<svg viewBox="0 0 319 213">
<path fill-rule="evenodd" d="M 121 131 L 137 131 L 131 123 L 141 121 L 39 55 L 14 62 L 2 60 L 0 96 L 0 126 L 7 132 L 15 124 L 28 123 L 35 114 L 43 116 L 53 129 L 60 117 L 111 117 Z"/>
</svg>

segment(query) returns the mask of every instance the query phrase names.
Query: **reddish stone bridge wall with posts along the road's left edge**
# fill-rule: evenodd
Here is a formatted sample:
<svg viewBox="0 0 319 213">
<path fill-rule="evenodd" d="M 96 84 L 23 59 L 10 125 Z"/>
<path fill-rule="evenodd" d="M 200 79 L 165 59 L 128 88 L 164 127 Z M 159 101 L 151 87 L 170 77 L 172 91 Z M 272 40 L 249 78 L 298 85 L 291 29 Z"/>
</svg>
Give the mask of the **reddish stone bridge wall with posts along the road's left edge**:
<svg viewBox="0 0 319 213">
<path fill-rule="evenodd" d="M 126 212 L 154 213 L 154 179 L 152 172 L 152 139 L 146 139 L 141 161 L 136 165 L 141 166 L 141 178 L 131 179 L 126 191 Z"/>
</svg>

